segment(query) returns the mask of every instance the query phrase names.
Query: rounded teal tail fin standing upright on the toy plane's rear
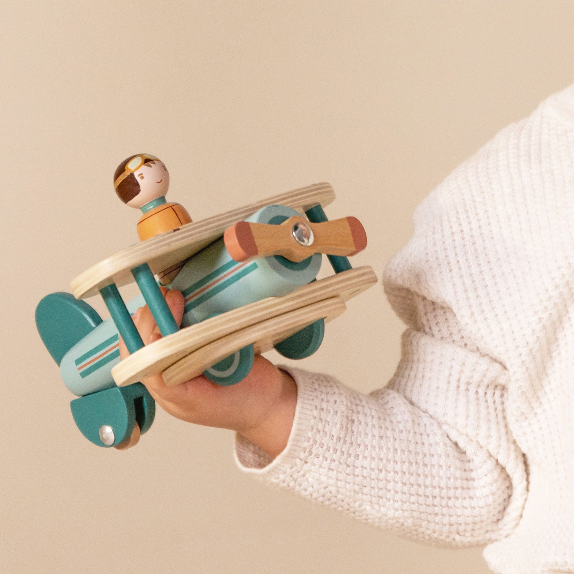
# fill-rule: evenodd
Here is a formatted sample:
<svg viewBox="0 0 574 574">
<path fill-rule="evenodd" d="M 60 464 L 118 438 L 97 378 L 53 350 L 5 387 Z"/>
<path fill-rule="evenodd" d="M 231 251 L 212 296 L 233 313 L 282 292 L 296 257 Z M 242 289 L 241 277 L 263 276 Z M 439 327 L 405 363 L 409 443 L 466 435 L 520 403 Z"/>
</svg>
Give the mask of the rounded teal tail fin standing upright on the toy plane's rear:
<svg viewBox="0 0 574 574">
<path fill-rule="evenodd" d="M 100 323 L 98 312 L 70 293 L 46 295 L 36 307 L 36 328 L 58 366 L 64 355 Z"/>
</svg>

